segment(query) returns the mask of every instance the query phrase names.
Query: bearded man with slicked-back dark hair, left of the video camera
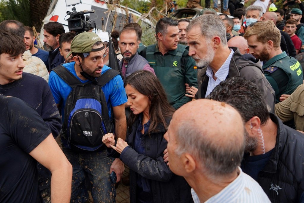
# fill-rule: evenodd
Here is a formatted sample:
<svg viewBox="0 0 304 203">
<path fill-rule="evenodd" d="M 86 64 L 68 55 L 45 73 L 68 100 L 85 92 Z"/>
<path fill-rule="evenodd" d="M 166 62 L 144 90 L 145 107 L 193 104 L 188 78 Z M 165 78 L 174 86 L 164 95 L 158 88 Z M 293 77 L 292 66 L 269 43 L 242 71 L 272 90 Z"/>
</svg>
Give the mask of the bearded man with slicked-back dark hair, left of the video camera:
<svg viewBox="0 0 304 203">
<path fill-rule="evenodd" d="M 43 26 L 43 29 L 43 42 L 50 50 L 47 69 L 51 71 L 52 68 L 64 62 L 64 58 L 59 52 L 59 37 L 65 31 L 63 25 L 58 22 L 49 22 Z"/>
</svg>

